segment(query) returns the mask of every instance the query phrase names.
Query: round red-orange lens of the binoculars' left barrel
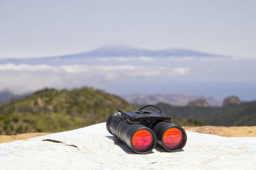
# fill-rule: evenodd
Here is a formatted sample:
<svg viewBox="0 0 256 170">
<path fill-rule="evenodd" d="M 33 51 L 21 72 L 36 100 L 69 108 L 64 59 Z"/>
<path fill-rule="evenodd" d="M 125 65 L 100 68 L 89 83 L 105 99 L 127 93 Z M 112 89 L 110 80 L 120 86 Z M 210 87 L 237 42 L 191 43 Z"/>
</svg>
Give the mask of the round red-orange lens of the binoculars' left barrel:
<svg viewBox="0 0 256 170">
<path fill-rule="evenodd" d="M 145 150 L 152 143 L 152 135 L 147 130 L 139 130 L 133 135 L 132 143 L 137 150 Z"/>
</svg>

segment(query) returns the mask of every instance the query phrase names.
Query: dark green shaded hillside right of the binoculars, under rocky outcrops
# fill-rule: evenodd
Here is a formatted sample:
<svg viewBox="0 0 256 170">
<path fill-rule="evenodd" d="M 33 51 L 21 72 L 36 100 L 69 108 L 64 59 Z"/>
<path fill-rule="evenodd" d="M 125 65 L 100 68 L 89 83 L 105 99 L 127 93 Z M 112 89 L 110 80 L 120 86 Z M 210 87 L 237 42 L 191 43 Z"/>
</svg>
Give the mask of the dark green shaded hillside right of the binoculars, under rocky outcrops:
<svg viewBox="0 0 256 170">
<path fill-rule="evenodd" d="M 158 106 L 168 115 L 198 120 L 207 125 L 256 125 L 256 101 L 226 107 L 182 107 L 164 103 L 159 103 Z"/>
</svg>

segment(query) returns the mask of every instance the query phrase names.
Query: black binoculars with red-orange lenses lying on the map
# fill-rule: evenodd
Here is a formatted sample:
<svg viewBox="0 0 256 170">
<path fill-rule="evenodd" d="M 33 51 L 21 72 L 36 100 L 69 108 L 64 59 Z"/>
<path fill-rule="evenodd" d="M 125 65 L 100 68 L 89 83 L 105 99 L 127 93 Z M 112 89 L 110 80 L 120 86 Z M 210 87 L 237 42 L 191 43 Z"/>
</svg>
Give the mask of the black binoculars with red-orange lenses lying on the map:
<svg viewBox="0 0 256 170">
<path fill-rule="evenodd" d="M 159 111 L 143 110 L 149 106 Z M 154 105 L 129 112 L 118 110 L 109 116 L 106 127 L 109 133 L 139 154 L 150 153 L 156 144 L 168 152 L 175 152 L 181 150 L 187 141 L 184 129 L 172 123 L 171 118 Z"/>
</svg>

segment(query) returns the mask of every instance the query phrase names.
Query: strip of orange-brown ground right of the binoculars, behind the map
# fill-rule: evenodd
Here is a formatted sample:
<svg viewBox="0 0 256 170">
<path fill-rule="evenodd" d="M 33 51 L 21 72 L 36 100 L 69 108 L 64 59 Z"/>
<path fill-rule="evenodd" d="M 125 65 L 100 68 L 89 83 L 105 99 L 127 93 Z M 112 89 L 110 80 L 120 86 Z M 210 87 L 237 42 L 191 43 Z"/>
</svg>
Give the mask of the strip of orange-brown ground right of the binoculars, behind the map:
<svg viewBox="0 0 256 170">
<path fill-rule="evenodd" d="M 224 137 L 256 136 L 256 126 L 184 126 L 186 131 L 219 135 Z"/>
</svg>

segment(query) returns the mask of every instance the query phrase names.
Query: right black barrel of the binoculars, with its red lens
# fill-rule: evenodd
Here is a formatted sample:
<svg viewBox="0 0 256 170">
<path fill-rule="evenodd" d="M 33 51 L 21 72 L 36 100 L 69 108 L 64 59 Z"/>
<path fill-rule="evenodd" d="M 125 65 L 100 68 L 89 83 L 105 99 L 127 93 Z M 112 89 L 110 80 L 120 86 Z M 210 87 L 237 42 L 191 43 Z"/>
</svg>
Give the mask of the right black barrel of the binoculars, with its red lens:
<svg viewBox="0 0 256 170">
<path fill-rule="evenodd" d="M 160 122 L 153 127 L 158 145 L 169 152 L 182 149 L 187 142 L 187 135 L 181 126 L 171 122 Z"/>
</svg>

